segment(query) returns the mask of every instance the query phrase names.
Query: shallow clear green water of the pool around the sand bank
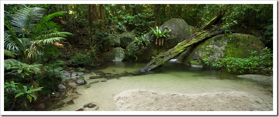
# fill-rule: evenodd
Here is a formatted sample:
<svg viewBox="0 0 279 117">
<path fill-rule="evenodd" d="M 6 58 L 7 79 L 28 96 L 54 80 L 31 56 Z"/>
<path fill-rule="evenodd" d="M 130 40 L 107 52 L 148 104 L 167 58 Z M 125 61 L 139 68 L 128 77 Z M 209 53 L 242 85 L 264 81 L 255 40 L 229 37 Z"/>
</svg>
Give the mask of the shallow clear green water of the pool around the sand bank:
<svg viewBox="0 0 279 117">
<path fill-rule="evenodd" d="M 92 69 L 92 73 L 102 71 L 106 74 L 124 74 L 140 70 L 147 63 L 142 62 L 104 62 Z M 89 79 L 92 73 L 85 74 L 88 84 L 95 79 Z M 273 102 L 273 97 L 267 94 L 271 86 L 264 86 L 246 79 L 237 78 L 214 70 L 194 68 L 174 61 L 164 64 L 160 69 L 150 71 L 144 75 L 123 76 L 109 79 L 106 82 L 90 84 L 85 88 L 78 86 L 77 91 L 82 94 L 74 99 L 74 105 L 65 104 L 64 107 L 52 111 L 75 111 L 83 105 L 94 103 L 96 108 L 84 108 L 84 111 L 118 111 L 113 96 L 125 90 L 143 89 L 159 93 L 203 94 L 216 92 L 246 92 Z M 64 102 L 71 100 L 68 96 Z"/>
</svg>

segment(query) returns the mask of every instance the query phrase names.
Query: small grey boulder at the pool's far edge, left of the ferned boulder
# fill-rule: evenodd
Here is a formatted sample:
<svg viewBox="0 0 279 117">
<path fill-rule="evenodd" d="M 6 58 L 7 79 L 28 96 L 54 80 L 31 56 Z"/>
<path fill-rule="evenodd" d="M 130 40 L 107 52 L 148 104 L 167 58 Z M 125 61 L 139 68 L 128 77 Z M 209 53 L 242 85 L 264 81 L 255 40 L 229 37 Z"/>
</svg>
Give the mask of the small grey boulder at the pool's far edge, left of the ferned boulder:
<svg viewBox="0 0 279 117">
<path fill-rule="evenodd" d="M 101 58 L 108 61 L 122 61 L 124 60 L 124 50 L 122 48 L 113 48 L 109 52 L 102 54 Z"/>
</svg>

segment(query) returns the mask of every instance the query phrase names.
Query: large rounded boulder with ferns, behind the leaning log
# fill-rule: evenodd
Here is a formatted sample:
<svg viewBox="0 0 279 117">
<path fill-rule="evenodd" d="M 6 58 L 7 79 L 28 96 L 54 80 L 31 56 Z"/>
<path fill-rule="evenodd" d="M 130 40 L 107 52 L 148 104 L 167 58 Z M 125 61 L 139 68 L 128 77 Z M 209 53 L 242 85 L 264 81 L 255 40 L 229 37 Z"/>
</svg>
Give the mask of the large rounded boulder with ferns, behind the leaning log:
<svg viewBox="0 0 279 117">
<path fill-rule="evenodd" d="M 152 57 L 156 57 L 160 53 L 166 52 L 178 43 L 186 40 L 191 36 L 190 27 L 183 19 L 173 18 L 159 27 L 162 31 L 168 29 L 170 37 L 164 39 L 163 46 L 155 44 L 156 37 L 151 33 L 146 34 L 146 38 L 151 40 L 144 48 L 136 47 L 135 41 L 131 42 L 125 51 L 125 59 L 128 61 L 150 61 Z"/>
</svg>

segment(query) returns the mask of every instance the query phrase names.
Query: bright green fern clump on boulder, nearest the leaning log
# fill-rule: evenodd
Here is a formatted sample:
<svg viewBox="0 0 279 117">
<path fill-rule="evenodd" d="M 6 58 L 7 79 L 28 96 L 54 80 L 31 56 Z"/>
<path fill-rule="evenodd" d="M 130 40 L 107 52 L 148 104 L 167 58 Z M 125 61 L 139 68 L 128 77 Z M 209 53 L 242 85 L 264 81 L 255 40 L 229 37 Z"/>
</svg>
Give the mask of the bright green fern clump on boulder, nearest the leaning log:
<svg viewBox="0 0 279 117">
<path fill-rule="evenodd" d="M 151 28 L 151 27 L 150 27 Z M 170 37 L 170 35 L 168 35 L 167 33 L 169 32 L 168 29 L 164 29 L 163 31 L 161 31 L 158 26 L 156 26 L 156 29 L 154 30 L 153 28 L 151 28 L 151 33 L 152 36 L 156 37 L 156 41 L 155 44 L 159 45 L 159 46 L 163 46 L 164 44 L 164 38 L 168 39 L 168 37 Z"/>
</svg>

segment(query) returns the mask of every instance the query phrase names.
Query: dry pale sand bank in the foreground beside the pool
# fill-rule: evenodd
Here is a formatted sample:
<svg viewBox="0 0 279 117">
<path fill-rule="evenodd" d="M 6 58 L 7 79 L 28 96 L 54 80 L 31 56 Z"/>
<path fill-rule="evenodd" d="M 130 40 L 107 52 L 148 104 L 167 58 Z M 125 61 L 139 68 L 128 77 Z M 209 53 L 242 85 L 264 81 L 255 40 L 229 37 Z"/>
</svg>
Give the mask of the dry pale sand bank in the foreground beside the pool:
<svg viewBox="0 0 279 117">
<path fill-rule="evenodd" d="M 273 111 L 273 103 L 244 92 L 189 95 L 136 89 L 114 100 L 120 111 Z"/>
</svg>

